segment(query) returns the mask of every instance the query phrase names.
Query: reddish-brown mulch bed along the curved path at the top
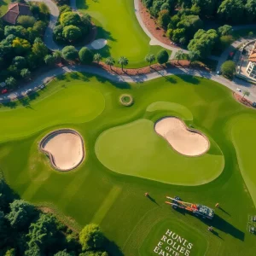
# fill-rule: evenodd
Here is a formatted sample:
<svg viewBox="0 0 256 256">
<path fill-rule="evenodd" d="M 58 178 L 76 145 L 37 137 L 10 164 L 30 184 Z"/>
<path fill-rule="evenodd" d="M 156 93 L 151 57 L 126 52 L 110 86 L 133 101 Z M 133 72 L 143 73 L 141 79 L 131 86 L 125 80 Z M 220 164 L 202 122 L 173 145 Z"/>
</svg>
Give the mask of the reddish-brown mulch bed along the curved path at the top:
<svg viewBox="0 0 256 256">
<path fill-rule="evenodd" d="M 139 12 L 144 25 L 147 26 L 148 31 L 154 36 L 154 38 L 157 38 L 163 44 L 171 45 L 171 40 L 166 38 L 165 30 L 157 25 L 157 20 L 149 14 L 148 9 L 143 5 L 141 0 L 139 3 Z M 176 47 L 174 45 L 172 46 Z"/>
</svg>

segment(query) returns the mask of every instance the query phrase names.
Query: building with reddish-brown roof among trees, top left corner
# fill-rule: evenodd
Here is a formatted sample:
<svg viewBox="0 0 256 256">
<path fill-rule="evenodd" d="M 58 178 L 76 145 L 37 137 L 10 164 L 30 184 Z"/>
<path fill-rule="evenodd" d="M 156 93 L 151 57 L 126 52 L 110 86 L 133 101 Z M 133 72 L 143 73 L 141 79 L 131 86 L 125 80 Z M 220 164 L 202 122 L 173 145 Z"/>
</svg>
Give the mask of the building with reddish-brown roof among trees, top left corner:
<svg viewBox="0 0 256 256">
<path fill-rule="evenodd" d="M 20 15 L 32 16 L 29 5 L 26 3 L 10 3 L 8 11 L 3 15 L 2 19 L 15 25 Z"/>
</svg>

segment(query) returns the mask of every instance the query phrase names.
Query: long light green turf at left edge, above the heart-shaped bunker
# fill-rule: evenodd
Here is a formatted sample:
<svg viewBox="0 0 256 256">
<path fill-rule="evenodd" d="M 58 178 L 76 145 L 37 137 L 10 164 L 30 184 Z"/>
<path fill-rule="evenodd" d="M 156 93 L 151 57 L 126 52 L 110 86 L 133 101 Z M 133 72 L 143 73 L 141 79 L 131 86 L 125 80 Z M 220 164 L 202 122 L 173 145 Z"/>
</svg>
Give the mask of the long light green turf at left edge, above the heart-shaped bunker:
<svg viewBox="0 0 256 256">
<path fill-rule="evenodd" d="M 0 108 L 1 118 L 5 125 L 0 125 L 0 141 L 9 137 L 23 137 L 51 125 L 82 123 L 95 119 L 105 107 L 105 99 L 92 84 L 82 82 L 65 87 L 61 83 L 53 91 L 54 96 L 21 103 L 26 108 Z M 48 89 L 46 89 L 48 90 Z M 49 89 L 51 90 L 51 89 Z M 33 96 L 32 96 L 33 97 Z M 18 107 L 18 106 L 17 106 Z M 17 123 L 19 129 L 17 129 Z"/>
</svg>

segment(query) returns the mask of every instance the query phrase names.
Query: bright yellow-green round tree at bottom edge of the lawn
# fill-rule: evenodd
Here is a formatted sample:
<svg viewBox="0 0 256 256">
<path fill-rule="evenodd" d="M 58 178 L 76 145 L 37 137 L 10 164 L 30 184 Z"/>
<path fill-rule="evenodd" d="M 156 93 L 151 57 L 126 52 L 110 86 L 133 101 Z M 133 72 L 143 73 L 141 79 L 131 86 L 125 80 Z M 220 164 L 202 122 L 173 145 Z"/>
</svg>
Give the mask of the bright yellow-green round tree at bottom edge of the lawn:
<svg viewBox="0 0 256 256">
<path fill-rule="evenodd" d="M 97 250 L 103 247 L 106 238 L 97 224 L 88 224 L 79 234 L 83 251 Z"/>
</svg>

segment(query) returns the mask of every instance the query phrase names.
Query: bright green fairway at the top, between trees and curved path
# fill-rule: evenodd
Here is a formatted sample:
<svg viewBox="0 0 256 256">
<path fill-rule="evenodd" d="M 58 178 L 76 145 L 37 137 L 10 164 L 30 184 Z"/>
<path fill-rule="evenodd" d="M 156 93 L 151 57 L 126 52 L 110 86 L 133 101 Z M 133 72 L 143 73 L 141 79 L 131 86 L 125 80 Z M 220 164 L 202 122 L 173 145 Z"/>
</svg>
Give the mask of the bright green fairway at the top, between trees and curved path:
<svg viewBox="0 0 256 256">
<path fill-rule="evenodd" d="M 99 50 L 102 56 L 112 55 L 117 60 L 124 55 L 129 60 L 127 67 L 144 67 L 148 65 L 145 56 L 160 51 L 160 46 L 149 45 L 137 21 L 133 0 L 77 0 L 77 7 L 92 16 L 98 26 L 97 38 L 108 39 L 108 45 Z"/>
</svg>

